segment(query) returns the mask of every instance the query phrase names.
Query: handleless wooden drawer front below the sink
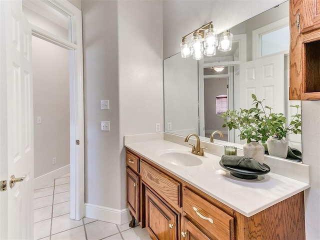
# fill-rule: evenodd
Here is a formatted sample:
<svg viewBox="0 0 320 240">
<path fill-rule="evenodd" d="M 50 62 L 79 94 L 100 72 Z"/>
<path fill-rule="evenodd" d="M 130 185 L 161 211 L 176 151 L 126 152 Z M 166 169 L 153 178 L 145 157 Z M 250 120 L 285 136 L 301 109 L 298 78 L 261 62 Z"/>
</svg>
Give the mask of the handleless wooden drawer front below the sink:
<svg viewBox="0 0 320 240">
<path fill-rule="evenodd" d="M 142 180 L 169 203 L 180 207 L 181 184 L 163 172 L 158 171 L 145 161 L 140 161 Z"/>
</svg>

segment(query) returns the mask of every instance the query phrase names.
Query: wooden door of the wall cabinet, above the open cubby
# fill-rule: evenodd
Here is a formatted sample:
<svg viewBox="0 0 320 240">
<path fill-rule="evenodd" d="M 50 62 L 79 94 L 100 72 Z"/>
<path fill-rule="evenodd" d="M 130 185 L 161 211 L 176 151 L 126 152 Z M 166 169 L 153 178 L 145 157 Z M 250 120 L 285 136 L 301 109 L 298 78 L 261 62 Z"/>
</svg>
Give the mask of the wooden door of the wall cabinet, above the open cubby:
<svg viewBox="0 0 320 240">
<path fill-rule="evenodd" d="M 320 0 L 300 0 L 300 32 L 320 28 Z"/>
</svg>

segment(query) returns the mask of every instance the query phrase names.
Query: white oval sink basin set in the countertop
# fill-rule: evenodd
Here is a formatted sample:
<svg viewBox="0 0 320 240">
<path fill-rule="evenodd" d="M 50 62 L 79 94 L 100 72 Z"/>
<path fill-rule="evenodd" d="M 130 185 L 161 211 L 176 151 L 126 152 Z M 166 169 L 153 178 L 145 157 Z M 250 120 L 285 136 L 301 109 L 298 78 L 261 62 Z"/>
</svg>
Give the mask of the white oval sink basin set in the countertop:
<svg viewBox="0 0 320 240">
<path fill-rule="evenodd" d="M 197 166 L 202 163 L 201 159 L 187 151 L 164 152 L 160 154 L 160 159 L 176 166 Z"/>
</svg>

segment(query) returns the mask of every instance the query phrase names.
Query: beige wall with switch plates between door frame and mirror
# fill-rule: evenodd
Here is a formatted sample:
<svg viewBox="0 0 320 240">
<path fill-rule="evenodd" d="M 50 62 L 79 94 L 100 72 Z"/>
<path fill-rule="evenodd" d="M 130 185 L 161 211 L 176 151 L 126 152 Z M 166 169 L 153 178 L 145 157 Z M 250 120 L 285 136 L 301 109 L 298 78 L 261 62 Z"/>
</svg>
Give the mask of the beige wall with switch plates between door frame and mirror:
<svg viewBox="0 0 320 240">
<path fill-rule="evenodd" d="M 85 202 L 124 209 L 123 135 L 163 129 L 161 1 L 81 2 Z M 99 101 L 110 100 L 110 110 Z M 100 121 L 110 121 L 110 131 Z"/>
</svg>

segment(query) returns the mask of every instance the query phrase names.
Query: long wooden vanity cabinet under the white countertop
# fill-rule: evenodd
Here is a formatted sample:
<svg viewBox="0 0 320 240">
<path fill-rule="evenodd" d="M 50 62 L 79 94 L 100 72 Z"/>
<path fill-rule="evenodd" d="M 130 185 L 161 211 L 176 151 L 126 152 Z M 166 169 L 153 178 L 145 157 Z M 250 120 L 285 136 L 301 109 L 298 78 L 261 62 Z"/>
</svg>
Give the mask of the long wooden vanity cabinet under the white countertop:
<svg viewBox="0 0 320 240">
<path fill-rule="evenodd" d="M 137 153 L 128 153 L 138 159 L 137 171 L 132 170 L 135 164 L 127 165 L 128 208 L 152 239 L 305 239 L 303 191 L 246 217 Z"/>
</svg>

